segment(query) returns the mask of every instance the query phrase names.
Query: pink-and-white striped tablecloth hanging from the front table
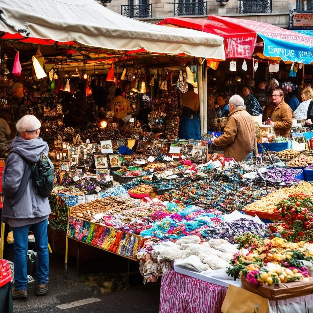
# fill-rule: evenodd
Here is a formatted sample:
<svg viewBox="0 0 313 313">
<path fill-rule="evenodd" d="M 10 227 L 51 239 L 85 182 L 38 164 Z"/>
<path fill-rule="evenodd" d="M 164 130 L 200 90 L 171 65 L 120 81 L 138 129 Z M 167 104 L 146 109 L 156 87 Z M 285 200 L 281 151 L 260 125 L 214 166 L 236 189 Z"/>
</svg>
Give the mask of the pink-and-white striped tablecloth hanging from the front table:
<svg viewBox="0 0 313 313">
<path fill-rule="evenodd" d="M 170 269 L 162 275 L 160 313 L 220 313 L 226 291 Z"/>
</svg>

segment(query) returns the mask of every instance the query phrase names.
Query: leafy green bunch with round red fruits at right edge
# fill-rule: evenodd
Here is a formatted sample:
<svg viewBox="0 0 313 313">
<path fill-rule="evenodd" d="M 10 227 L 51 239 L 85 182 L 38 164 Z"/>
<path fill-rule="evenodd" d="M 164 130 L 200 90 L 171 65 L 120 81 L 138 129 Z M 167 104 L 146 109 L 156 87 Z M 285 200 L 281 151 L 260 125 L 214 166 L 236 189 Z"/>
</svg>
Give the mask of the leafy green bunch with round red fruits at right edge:
<svg viewBox="0 0 313 313">
<path fill-rule="evenodd" d="M 277 204 L 274 213 L 279 213 L 280 221 L 269 224 L 270 234 L 279 233 L 291 242 L 313 243 L 313 202 L 304 193 L 292 194 Z"/>
</svg>

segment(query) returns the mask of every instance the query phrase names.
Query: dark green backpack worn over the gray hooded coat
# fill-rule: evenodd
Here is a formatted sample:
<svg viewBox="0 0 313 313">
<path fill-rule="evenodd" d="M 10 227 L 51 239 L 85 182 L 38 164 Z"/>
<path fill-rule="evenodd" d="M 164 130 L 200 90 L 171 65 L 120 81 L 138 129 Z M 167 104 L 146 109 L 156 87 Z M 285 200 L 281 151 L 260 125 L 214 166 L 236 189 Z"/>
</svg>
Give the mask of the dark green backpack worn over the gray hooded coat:
<svg viewBox="0 0 313 313">
<path fill-rule="evenodd" d="M 38 195 L 48 197 L 54 187 L 54 166 L 43 153 L 40 160 L 32 165 L 32 173 Z"/>
</svg>

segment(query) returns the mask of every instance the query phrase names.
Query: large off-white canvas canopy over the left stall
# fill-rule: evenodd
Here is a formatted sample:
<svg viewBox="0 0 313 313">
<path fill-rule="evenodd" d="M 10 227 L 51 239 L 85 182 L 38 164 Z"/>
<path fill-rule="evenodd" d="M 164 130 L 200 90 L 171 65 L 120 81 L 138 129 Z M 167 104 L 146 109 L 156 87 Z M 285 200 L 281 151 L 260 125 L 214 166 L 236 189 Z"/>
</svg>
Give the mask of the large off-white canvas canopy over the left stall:
<svg viewBox="0 0 313 313">
<path fill-rule="evenodd" d="M 220 36 L 137 21 L 94 0 L 1 0 L 0 31 L 110 50 L 225 59 Z"/>
</svg>

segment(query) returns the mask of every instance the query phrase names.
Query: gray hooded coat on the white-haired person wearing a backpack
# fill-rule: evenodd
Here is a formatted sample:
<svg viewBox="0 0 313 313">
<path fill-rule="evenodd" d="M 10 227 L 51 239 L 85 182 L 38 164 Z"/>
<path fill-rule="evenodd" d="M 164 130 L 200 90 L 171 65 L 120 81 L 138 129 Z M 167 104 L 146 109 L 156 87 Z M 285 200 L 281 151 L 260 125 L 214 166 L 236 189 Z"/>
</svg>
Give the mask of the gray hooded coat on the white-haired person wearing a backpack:
<svg viewBox="0 0 313 313">
<path fill-rule="evenodd" d="M 26 190 L 18 203 L 10 206 L 9 201 L 6 201 L 6 197 L 13 197 L 18 192 L 25 168 L 28 166 L 26 162 L 39 161 L 41 153 L 48 156 L 48 144 L 41 138 L 25 140 L 18 136 L 13 139 L 10 148 L 2 177 L 4 194 L 2 221 L 40 218 L 49 215 L 51 213 L 49 200 L 37 194 L 32 177 L 28 180 Z"/>
</svg>

